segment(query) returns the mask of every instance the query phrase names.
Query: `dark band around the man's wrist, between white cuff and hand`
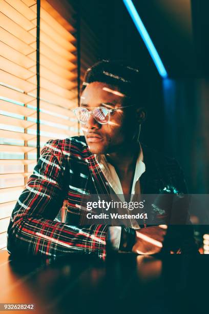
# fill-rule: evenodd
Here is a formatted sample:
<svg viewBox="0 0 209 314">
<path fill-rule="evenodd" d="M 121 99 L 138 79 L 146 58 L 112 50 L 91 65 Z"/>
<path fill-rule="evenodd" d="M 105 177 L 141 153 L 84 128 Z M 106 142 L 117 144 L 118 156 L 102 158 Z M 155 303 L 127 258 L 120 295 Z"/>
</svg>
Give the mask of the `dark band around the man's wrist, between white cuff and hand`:
<svg viewBox="0 0 209 314">
<path fill-rule="evenodd" d="M 122 227 L 119 250 L 131 252 L 135 243 L 136 243 L 135 229 L 129 227 Z"/>
</svg>

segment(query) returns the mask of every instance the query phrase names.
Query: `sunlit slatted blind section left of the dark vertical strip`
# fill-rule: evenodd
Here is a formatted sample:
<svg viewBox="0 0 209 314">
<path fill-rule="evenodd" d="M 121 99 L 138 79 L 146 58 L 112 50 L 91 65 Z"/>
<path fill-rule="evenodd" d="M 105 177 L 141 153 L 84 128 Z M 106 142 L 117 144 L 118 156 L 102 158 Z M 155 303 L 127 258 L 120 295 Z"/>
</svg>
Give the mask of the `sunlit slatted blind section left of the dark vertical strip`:
<svg viewBox="0 0 209 314">
<path fill-rule="evenodd" d="M 36 100 L 36 58 L 29 57 L 36 55 L 35 5 L 0 0 L 0 249 L 6 247 L 11 212 L 36 160 L 36 110 L 30 108 Z"/>
</svg>

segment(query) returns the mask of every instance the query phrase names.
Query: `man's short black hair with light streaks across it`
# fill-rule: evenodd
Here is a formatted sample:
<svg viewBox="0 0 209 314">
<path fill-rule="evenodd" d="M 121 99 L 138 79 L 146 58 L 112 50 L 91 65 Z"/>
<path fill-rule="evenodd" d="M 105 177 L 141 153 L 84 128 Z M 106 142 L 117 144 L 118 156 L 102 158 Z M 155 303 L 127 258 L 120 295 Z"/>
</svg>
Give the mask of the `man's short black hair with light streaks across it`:
<svg viewBox="0 0 209 314">
<path fill-rule="evenodd" d="M 145 106 L 147 81 L 137 67 L 127 62 L 102 60 L 95 63 L 86 70 L 81 91 L 93 82 L 115 86 L 126 95 L 125 102 Z"/>
</svg>

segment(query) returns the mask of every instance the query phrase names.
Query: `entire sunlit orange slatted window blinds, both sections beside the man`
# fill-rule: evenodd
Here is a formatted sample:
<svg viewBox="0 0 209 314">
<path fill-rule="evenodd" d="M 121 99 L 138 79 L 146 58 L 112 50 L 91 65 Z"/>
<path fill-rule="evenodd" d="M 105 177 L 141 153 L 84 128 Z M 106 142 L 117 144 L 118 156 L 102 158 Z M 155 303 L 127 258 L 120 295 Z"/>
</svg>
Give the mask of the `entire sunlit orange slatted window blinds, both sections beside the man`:
<svg viewBox="0 0 209 314">
<path fill-rule="evenodd" d="M 0 249 L 37 158 L 35 0 L 0 0 Z M 40 2 L 40 147 L 78 134 L 75 26 Z"/>
</svg>

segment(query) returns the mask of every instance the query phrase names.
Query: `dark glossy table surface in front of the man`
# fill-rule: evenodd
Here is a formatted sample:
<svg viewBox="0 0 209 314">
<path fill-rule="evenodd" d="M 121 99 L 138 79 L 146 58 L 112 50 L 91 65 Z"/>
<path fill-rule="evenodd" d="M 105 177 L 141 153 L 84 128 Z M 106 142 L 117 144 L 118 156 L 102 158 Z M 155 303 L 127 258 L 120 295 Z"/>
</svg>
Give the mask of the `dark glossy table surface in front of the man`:
<svg viewBox="0 0 209 314">
<path fill-rule="evenodd" d="M 38 314 L 205 313 L 208 262 L 207 255 L 132 253 L 105 261 L 74 254 L 50 261 L 0 251 L 0 303 L 33 303 L 35 311 L 18 312 Z"/>
</svg>

